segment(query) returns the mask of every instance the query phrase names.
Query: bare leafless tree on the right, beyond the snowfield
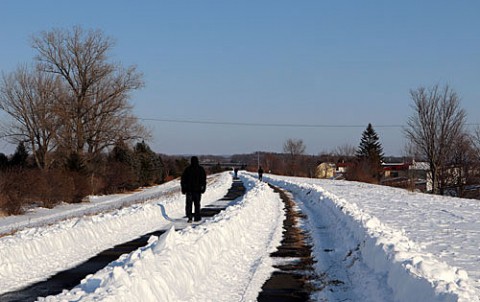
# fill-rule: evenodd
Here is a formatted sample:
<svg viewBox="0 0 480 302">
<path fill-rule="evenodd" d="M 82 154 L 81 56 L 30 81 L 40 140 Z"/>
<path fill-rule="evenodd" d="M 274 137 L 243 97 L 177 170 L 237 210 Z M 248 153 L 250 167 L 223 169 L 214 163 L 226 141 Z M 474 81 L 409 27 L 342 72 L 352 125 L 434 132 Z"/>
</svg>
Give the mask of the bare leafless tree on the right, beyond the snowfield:
<svg viewBox="0 0 480 302">
<path fill-rule="evenodd" d="M 406 137 L 430 165 L 433 193 L 443 193 L 441 171 L 452 158 L 455 143 L 464 134 L 465 111 L 448 85 L 410 91 L 414 114 L 404 128 Z"/>
</svg>

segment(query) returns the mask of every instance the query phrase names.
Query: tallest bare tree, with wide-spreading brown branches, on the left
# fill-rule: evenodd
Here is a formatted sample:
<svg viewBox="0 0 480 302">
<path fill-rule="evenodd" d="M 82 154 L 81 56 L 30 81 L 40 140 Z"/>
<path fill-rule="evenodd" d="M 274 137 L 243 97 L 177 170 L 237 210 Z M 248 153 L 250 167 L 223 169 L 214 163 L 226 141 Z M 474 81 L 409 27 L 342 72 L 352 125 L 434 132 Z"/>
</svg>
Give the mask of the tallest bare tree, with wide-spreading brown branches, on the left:
<svg viewBox="0 0 480 302">
<path fill-rule="evenodd" d="M 108 62 L 112 39 L 101 31 L 54 29 L 32 39 L 39 70 L 55 75 L 65 87 L 58 98 L 61 151 L 92 158 L 117 140 L 145 137 L 128 103 L 131 91 L 143 86 L 134 66 Z"/>
</svg>

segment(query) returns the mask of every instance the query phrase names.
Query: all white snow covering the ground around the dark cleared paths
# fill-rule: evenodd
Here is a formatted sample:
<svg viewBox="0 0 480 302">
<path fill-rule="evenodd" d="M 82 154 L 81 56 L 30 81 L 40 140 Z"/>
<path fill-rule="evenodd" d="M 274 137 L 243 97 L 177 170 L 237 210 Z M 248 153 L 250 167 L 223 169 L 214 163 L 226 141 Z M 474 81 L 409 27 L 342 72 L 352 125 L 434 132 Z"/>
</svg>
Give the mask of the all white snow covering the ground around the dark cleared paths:
<svg viewBox="0 0 480 302">
<path fill-rule="evenodd" d="M 0 293 L 75 266 L 141 234 L 149 244 L 41 301 L 254 301 L 272 272 L 283 204 L 254 175 L 246 194 L 203 224 L 179 226 L 178 181 L 82 205 L 0 218 Z M 264 175 L 307 214 L 317 301 L 479 301 L 477 201 L 363 183 Z M 215 175 L 202 204 L 223 197 L 230 173 Z M 122 205 L 118 208 L 118 205 Z M 98 214 L 96 214 L 98 213 Z M 183 224 L 185 226 L 185 223 Z M 14 232 L 15 230 L 19 230 Z"/>
</svg>

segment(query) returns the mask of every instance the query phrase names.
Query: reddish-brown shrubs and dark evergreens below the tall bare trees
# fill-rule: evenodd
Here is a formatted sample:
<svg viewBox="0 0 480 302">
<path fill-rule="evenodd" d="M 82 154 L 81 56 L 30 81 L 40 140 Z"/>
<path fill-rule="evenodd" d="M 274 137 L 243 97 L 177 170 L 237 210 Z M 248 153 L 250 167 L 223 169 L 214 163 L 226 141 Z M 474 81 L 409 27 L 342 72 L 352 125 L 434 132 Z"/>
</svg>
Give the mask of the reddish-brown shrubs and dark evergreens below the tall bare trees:
<svg viewBox="0 0 480 302">
<path fill-rule="evenodd" d="M 26 204 L 53 207 L 59 202 L 81 202 L 90 194 L 134 190 L 177 177 L 166 173 L 183 167 L 183 162 L 163 160 L 141 142 L 133 148 L 118 144 L 88 164 L 70 157 L 65 165 L 45 170 L 36 166 L 20 143 L 12 156 L 0 154 L 0 209 L 18 214 Z"/>
</svg>

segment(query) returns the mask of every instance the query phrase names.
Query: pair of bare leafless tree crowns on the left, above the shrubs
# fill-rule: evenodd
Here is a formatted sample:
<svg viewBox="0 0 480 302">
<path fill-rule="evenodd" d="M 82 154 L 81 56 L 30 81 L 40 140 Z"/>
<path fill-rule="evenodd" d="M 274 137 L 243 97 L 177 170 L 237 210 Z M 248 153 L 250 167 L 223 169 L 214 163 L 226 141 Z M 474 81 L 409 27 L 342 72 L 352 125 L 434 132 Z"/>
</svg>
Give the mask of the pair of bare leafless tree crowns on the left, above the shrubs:
<svg viewBox="0 0 480 302">
<path fill-rule="evenodd" d="M 10 119 L 2 135 L 25 143 L 39 169 L 75 158 L 92 162 L 118 142 L 148 136 L 129 104 L 142 75 L 109 61 L 113 45 L 97 30 L 42 32 L 32 38 L 33 64 L 3 75 L 0 109 Z"/>
</svg>

